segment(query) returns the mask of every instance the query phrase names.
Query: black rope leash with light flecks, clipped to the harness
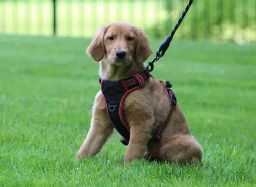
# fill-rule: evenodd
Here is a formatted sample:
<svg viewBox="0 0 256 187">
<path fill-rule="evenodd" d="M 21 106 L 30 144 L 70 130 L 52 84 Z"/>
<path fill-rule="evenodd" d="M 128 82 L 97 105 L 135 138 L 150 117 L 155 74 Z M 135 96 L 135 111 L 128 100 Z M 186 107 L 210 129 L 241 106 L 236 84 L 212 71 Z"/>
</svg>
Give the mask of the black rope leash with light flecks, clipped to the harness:
<svg viewBox="0 0 256 187">
<path fill-rule="evenodd" d="M 172 38 L 173 38 L 173 35 L 175 34 L 175 32 L 177 31 L 178 27 L 180 26 L 180 23 L 184 19 L 185 15 L 188 12 L 188 10 L 189 10 L 190 6 L 192 5 L 192 3 L 193 3 L 193 0 L 189 0 L 189 3 L 187 4 L 185 10 L 181 14 L 180 19 L 176 23 L 175 27 L 172 29 L 172 33 L 169 34 L 168 37 L 166 37 L 166 39 L 161 43 L 160 47 L 157 50 L 157 54 L 154 57 L 154 59 L 151 62 L 148 62 L 148 66 L 146 67 L 146 70 L 153 71 L 153 69 L 154 69 L 153 63 L 156 62 L 157 60 L 159 60 L 161 57 L 163 57 L 163 55 L 165 54 L 166 50 L 169 48 L 169 45 L 170 45 L 170 43 L 172 41 Z M 150 69 L 149 69 L 149 66 L 150 66 Z"/>
</svg>

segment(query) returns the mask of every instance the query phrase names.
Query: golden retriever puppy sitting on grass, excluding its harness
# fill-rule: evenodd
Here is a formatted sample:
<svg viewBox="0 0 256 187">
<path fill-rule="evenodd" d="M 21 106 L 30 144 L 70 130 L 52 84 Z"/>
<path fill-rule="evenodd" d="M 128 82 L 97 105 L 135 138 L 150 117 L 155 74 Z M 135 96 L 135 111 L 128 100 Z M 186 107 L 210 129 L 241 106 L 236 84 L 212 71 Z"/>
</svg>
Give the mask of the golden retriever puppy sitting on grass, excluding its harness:
<svg viewBox="0 0 256 187">
<path fill-rule="evenodd" d="M 144 62 L 152 50 L 141 28 L 115 22 L 101 26 L 88 46 L 87 53 L 99 62 L 102 79 L 116 81 L 145 71 Z M 164 91 L 165 84 L 165 81 L 151 76 L 142 88 L 131 92 L 124 100 L 122 111 L 130 131 L 124 164 L 143 157 L 179 164 L 201 164 L 202 148 L 190 133 L 178 104 L 161 138 L 148 146 L 156 128 L 166 120 L 170 111 L 171 101 Z M 93 105 L 90 130 L 76 154 L 76 160 L 99 153 L 113 129 L 104 96 L 99 91 Z"/>
</svg>

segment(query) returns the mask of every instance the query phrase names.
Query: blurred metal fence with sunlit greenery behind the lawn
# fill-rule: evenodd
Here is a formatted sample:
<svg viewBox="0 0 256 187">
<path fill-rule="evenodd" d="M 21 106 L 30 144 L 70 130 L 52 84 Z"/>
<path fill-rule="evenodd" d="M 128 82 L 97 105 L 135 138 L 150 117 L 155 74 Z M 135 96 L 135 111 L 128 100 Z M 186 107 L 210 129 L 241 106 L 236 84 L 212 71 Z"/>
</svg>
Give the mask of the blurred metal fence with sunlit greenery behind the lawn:
<svg viewBox="0 0 256 187">
<path fill-rule="evenodd" d="M 188 0 L 0 0 L 0 33 L 92 37 L 125 21 L 165 38 Z M 256 43 L 256 0 L 194 0 L 175 39 Z"/>
</svg>

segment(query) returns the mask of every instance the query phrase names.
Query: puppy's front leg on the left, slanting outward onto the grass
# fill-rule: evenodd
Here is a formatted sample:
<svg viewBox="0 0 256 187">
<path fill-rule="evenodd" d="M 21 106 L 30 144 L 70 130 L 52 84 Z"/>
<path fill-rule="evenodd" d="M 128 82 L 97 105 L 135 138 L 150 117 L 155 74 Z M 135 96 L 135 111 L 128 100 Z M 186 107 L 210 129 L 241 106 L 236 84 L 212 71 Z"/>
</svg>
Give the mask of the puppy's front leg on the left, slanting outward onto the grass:
<svg viewBox="0 0 256 187">
<path fill-rule="evenodd" d="M 94 115 L 90 130 L 84 143 L 76 154 L 76 161 L 99 153 L 105 142 L 107 142 L 108 137 L 113 133 L 113 126 L 108 119 L 106 111 L 95 110 L 93 113 Z"/>
</svg>

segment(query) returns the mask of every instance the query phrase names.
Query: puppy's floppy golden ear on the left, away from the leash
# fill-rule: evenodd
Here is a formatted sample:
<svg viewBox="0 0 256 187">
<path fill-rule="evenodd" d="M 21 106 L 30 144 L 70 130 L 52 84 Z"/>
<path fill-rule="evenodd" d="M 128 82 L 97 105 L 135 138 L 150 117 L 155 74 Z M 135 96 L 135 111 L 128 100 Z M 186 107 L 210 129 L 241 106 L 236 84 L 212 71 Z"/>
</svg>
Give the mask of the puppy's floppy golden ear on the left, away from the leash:
<svg viewBox="0 0 256 187">
<path fill-rule="evenodd" d="M 86 49 L 86 53 L 93 57 L 94 61 L 99 62 L 105 55 L 103 37 L 108 30 L 108 25 L 103 25 L 93 37 L 92 42 Z"/>
</svg>

